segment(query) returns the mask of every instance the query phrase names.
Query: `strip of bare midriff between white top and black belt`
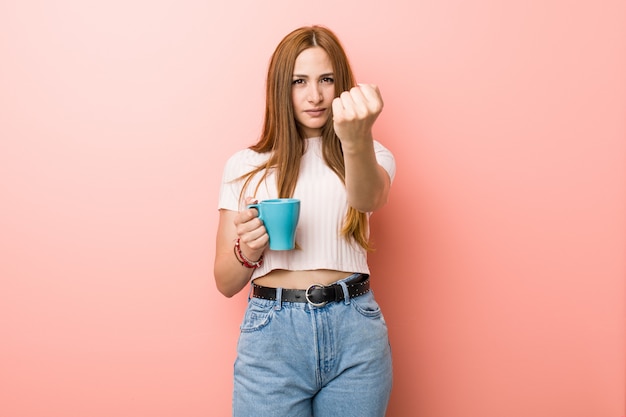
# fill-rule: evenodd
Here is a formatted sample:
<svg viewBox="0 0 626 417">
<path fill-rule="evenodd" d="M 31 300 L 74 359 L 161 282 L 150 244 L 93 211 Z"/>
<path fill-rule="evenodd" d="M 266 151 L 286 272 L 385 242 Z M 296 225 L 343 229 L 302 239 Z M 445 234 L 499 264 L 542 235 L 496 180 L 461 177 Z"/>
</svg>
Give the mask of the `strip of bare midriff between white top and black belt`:
<svg viewBox="0 0 626 417">
<path fill-rule="evenodd" d="M 311 271 L 288 271 L 275 269 L 256 278 L 254 283 L 264 287 L 305 290 L 313 284 L 329 285 L 352 275 L 352 272 L 315 269 Z"/>
</svg>

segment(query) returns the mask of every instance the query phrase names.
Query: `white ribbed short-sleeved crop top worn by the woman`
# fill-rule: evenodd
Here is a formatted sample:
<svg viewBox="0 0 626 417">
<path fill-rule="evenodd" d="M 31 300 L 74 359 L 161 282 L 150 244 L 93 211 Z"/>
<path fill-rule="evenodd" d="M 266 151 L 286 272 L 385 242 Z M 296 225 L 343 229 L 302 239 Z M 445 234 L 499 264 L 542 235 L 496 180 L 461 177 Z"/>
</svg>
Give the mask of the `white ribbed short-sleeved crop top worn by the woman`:
<svg viewBox="0 0 626 417">
<path fill-rule="evenodd" d="M 296 229 L 296 242 L 300 249 L 273 251 L 267 249 L 263 266 L 255 269 L 252 279 L 261 277 L 274 269 L 313 270 L 330 269 L 345 272 L 369 273 L 367 251 L 358 243 L 341 236 L 348 202 L 346 189 L 339 177 L 326 165 L 322 157 L 322 139 L 306 139 L 307 146 L 300 165 L 298 183 L 293 198 L 300 199 L 300 220 Z M 396 164 L 391 152 L 374 141 L 376 160 L 393 181 Z M 243 180 L 236 178 L 264 164 L 269 154 L 243 149 L 226 162 L 222 177 L 218 208 L 239 211 L 244 202 L 239 201 Z M 278 196 L 273 174 L 259 187 L 258 174 L 251 181 L 245 197 L 259 201 Z M 371 214 L 371 213 L 370 213 Z M 369 218 L 369 214 L 368 214 Z"/>
</svg>

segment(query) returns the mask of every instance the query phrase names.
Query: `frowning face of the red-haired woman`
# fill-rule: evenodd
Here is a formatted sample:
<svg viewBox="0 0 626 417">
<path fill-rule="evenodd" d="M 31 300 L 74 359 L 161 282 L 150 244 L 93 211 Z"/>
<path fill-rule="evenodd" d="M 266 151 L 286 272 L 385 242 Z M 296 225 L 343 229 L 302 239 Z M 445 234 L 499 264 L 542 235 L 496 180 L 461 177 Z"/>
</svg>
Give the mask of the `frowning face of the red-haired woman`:
<svg viewBox="0 0 626 417">
<path fill-rule="evenodd" d="M 321 136 L 335 98 L 335 76 L 328 54 L 322 48 L 305 49 L 298 55 L 291 83 L 296 122 L 305 137 Z"/>
</svg>

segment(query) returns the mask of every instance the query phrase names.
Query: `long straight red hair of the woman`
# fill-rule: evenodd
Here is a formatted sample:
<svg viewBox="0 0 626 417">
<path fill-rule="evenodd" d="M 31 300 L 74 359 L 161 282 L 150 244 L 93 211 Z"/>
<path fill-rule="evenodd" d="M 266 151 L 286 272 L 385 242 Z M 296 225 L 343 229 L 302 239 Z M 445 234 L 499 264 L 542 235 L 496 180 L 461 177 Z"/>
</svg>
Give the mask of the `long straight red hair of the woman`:
<svg viewBox="0 0 626 417">
<path fill-rule="evenodd" d="M 296 123 L 293 112 L 292 77 L 298 55 L 305 49 L 313 47 L 324 49 L 331 60 L 335 97 L 356 85 L 348 57 L 337 36 L 329 29 L 323 26 L 302 27 L 285 36 L 276 47 L 267 72 L 263 130 L 259 141 L 250 147 L 256 152 L 270 152 L 270 157 L 266 164 L 243 176 L 245 178 L 243 190 L 250 185 L 252 177 L 263 172 L 256 185 L 258 189 L 268 172 L 274 170 L 278 197 L 293 196 L 305 144 L 303 133 Z M 333 128 L 332 117 L 328 118 L 322 128 L 322 150 L 326 164 L 345 183 L 343 151 Z M 363 248 L 369 250 L 367 228 L 367 215 L 349 207 L 341 230 L 342 236 L 346 239 L 354 239 Z"/>
</svg>

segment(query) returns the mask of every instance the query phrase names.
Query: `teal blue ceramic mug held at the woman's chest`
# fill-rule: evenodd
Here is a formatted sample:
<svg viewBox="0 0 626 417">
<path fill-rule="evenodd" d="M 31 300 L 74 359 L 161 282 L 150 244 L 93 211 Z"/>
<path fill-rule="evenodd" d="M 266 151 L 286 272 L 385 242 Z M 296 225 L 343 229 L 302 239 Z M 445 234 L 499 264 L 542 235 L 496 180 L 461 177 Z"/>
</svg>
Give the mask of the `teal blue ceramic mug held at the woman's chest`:
<svg viewBox="0 0 626 417">
<path fill-rule="evenodd" d="M 270 237 L 271 250 L 291 250 L 296 247 L 296 226 L 300 218 L 300 200 L 275 198 L 248 205 L 259 212 Z"/>
</svg>

